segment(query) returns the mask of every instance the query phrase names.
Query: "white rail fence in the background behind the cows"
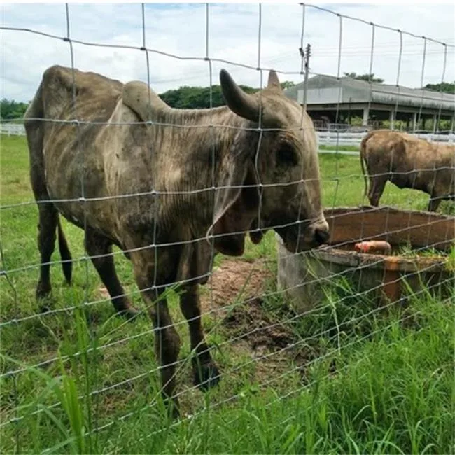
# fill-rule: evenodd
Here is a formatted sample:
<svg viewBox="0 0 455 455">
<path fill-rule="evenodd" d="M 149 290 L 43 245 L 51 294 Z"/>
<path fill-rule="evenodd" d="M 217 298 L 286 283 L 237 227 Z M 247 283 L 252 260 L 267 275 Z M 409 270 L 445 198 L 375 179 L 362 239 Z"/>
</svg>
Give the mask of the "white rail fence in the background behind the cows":
<svg viewBox="0 0 455 455">
<path fill-rule="evenodd" d="M 20 123 L 0 123 L 0 134 L 8 134 L 8 136 L 24 136 L 25 128 Z M 320 146 L 360 146 L 366 132 L 335 132 L 335 131 L 317 131 L 318 141 Z M 431 134 L 421 133 L 416 134 L 421 139 L 435 142 L 449 142 L 454 144 L 455 134 Z"/>
</svg>

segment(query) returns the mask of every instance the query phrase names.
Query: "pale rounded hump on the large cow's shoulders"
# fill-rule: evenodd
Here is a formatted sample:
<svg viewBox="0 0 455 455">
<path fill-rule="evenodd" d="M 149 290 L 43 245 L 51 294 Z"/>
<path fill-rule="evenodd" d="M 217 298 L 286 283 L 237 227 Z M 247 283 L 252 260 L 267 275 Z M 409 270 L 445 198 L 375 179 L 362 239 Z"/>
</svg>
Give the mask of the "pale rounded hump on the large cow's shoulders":
<svg viewBox="0 0 455 455">
<path fill-rule="evenodd" d="M 172 109 L 151 87 L 139 80 L 123 86 L 122 99 L 123 103 L 135 111 L 144 122 L 153 120 L 154 113 Z"/>
</svg>

